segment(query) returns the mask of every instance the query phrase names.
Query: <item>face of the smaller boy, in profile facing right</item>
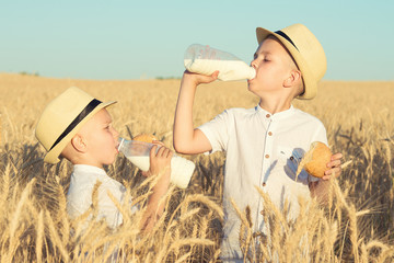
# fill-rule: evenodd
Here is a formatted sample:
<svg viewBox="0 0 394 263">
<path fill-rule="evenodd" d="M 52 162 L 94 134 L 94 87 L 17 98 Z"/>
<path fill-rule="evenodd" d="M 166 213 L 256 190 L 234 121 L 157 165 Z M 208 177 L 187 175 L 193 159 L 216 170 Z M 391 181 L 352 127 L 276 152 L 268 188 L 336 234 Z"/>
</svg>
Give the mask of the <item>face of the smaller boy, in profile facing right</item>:
<svg viewBox="0 0 394 263">
<path fill-rule="evenodd" d="M 102 168 L 115 161 L 119 134 L 112 127 L 112 117 L 105 108 L 94 114 L 78 134 L 86 144 L 85 164 Z"/>
</svg>

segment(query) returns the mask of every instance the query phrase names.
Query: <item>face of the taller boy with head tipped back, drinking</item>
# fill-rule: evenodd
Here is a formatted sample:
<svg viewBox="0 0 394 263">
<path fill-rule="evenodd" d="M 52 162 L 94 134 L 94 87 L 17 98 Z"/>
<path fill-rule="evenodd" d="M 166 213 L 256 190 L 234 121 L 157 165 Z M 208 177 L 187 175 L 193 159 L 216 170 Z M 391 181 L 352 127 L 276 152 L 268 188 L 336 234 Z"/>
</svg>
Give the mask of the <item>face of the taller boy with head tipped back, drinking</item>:
<svg viewBox="0 0 394 263">
<path fill-rule="evenodd" d="M 289 77 L 292 65 L 296 67 L 282 44 L 274 36 L 267 37 L 251 62 L 256 69 L 256 77 L 247 81 L 248 90 L 256 95 L 279 91 Z"/>
</svg>

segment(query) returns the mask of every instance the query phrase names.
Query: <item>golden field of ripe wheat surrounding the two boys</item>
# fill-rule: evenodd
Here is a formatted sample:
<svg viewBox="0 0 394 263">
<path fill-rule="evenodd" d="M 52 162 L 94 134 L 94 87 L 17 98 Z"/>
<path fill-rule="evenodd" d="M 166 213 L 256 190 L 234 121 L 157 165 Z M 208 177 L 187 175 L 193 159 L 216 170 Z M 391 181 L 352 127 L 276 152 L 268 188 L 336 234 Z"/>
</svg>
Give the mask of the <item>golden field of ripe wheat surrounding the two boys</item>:
<svg viewBox="0 0 394 263">
<path fill-rule="evenodd" d="M 140 235 L 136 224 L 143 208 L 132 214 L 128 204 L 117 204 L 124 216 L 118 229 L 95 220 L 95 193 L 86 214 L 68 218 L 71 165 L 65 160 L 44 164 L 34 128 L 45 105 L 71 85 L 118 101 L 109 112 L 121 136 L 155 133 L 172 146 L 179 80 L 88 81 L 0 73 L 0 262 L 105 262 L 114 249 L 125 262 L 218 262 L 222 153 L 187 157 L 196 163 L 190 185 L 170 190 L 164 216 L 149 235 Z M 352 162 L 332 181 L 327 204 L 300 201 L 296 221 L 286 221 L 286 211 L 262 193 L 268 237 L 252 232 L 247 210 L 234 207 L 243 222 L 240 240 L 246 262 L 394 261 L 393 101 L 394 82 L 324 81 L 314 100 L 294 102 L 324 123 L 333 152 Z M 201 85 L 194 124 L 224 108 L 256 103 L 244 82 Z M 137 168 L 119 156 L 107 172 L 143 204 L 149 182 Z M 82 221 L 90 215 L 84 228 Z"/>
</svg>

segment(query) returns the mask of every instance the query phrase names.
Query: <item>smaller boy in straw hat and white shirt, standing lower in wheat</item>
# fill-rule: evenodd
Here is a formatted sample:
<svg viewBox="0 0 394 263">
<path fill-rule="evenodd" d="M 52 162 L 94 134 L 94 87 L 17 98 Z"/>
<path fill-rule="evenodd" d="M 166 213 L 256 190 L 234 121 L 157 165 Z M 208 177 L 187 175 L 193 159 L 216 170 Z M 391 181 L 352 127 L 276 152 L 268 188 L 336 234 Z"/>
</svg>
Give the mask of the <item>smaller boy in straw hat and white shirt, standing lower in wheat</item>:
<svg viewBox="0 0 394 263">
<path fill-rule="evenodd" d="M 103 165 L 115 161 L 118 133 L 112 126 L 112 117 L 106 107 L 116 102 L 101 102 L 78 88 L 69 88 L 44 110 L 36 127 L 36 138 L 47 150 L 45 162 L 57 163 L 63 157 L 73 164 L 70 187 L 67 193 L 67 211 L 71 218 L 80 216 L 92 204 L 92 192 L 97 181 L 99 219 L 105 219 L 115 228 L 123 217 L 109 198 L 108 192 L 121 204 L 125 186 L 111 179 Z M 150 153 L 150 170 L 147 175 L 159 174 L 170 167 L 173 152 L 162 146 L 157 153 L 154 146 Z M 160 198 L 170 184 L 170 169 L 163 172 L 152 188 L 141 227 L 150 229 L 164 204 Z M 163 202 L 162 202 L 163 203 Z"/>
</svg>

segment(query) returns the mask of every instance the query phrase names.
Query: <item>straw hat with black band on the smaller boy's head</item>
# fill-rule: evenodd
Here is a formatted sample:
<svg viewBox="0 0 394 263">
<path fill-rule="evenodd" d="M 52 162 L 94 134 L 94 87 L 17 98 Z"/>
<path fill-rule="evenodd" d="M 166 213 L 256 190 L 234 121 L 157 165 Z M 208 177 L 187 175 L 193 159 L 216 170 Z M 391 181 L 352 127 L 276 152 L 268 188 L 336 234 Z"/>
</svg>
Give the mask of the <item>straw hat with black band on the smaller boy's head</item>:
<svg viewBox="0 0 394 263">
<path fill-rule="evenodd" d="M 71 138 L 96 112 L 112 102 L 101 102 L 86 92 L 71 87 L 55 98 L 38 119 L 35 136 L 48 151 L 45 162 L 57 163 Z"/>
</svg>

